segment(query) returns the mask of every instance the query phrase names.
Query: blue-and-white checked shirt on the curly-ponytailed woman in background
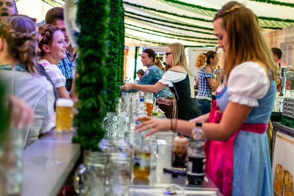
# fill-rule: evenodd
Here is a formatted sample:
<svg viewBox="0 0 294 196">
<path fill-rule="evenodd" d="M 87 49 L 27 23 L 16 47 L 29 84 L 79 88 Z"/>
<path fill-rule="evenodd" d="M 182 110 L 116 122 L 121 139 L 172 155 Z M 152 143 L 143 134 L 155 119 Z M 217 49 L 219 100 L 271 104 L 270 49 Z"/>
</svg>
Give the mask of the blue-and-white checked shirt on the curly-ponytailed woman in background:
<svg viewBox="0 0 294 196">
<path fill-rule="evenodd" d="M 207 67 L 198 72 L 198 93 L 197 99 L 207 99 L 212 101 L 212 89 L 207 79 L 214 77 L 213 73 L 206 73 Z"/>
</svg>

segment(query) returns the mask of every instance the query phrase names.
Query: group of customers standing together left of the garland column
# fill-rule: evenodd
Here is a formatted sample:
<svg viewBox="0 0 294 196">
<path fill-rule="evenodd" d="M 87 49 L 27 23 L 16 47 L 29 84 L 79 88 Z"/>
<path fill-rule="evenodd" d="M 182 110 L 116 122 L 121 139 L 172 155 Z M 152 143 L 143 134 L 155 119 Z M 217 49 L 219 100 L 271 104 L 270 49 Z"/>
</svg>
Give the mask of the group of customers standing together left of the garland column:
<svg viewBox="0 0 294 196">
<path fill-rule="evenodd" d="M 55 126 L 57 98 L 73 98 L 77 49 L 64 23 L 64 9 L 44 21 L 19 15 L 14 0 L 0 2 L 0 80 L 10 103 L 10 126 L 27 132 L 27 145 Z"/>
</svg>

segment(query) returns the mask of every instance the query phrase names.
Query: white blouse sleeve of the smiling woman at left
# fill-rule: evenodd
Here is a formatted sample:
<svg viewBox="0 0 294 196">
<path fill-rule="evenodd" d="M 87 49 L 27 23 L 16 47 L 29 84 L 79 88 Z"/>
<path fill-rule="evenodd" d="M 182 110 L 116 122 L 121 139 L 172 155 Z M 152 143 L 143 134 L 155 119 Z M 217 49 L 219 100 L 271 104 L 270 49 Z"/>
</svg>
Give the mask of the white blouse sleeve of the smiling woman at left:
<svg viewBox="0 0 294 196">
<path fill-rule="evenodd" d="M 62 74 L 62 72 L 59 70 L 59 68 L 56 65 L 48 65 L 44 67 L 46 72 L 49 74 L 54 87 L 60 88 L 62 86 L 65 86 L 65 76 Z"/>
</svg>

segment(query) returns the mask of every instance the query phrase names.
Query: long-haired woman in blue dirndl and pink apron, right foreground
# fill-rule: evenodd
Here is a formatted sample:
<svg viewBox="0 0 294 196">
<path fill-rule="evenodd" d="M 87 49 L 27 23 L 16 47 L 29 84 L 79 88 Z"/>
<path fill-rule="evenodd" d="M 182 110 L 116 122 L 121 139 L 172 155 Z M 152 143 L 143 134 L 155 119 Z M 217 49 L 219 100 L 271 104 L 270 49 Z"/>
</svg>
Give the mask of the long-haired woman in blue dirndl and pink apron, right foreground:
<svg viewBox="0 0 294 196">
<path fill-rule="evenodd" d="M 224 196 L 272 196 L 266 130 L 276 92 L 273 54 L 258 18 L 239 2 L 226 3 L 213 26 L 224 51 L 227 82 L 217 89 L 211 113 L 190 122 L 141 117 L 145 121 L 136 130 L 152 127 L 150 135 L 172 129 L 194 138 L 203 131 L 205 171 Z"/>
</svg>

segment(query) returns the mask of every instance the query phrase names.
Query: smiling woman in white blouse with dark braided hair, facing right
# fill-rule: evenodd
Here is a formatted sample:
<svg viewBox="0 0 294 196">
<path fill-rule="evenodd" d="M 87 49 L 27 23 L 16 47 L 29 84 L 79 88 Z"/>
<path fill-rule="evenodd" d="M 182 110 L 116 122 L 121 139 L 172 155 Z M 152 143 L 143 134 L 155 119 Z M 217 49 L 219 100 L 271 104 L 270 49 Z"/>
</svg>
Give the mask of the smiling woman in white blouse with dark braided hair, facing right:
<svg viewBox="0 0 294 196">
<path fill-rule="evenodd" d="M 41 26 L 39 29 L 38 56 L 39 63 L 49 74 L 60 98 L 70 98 L 66 90 L 66 78 L 57 67 L 61 59 L 67 58 L 65 38 L 61 30 L 52 25 Z"/>
</svg>

